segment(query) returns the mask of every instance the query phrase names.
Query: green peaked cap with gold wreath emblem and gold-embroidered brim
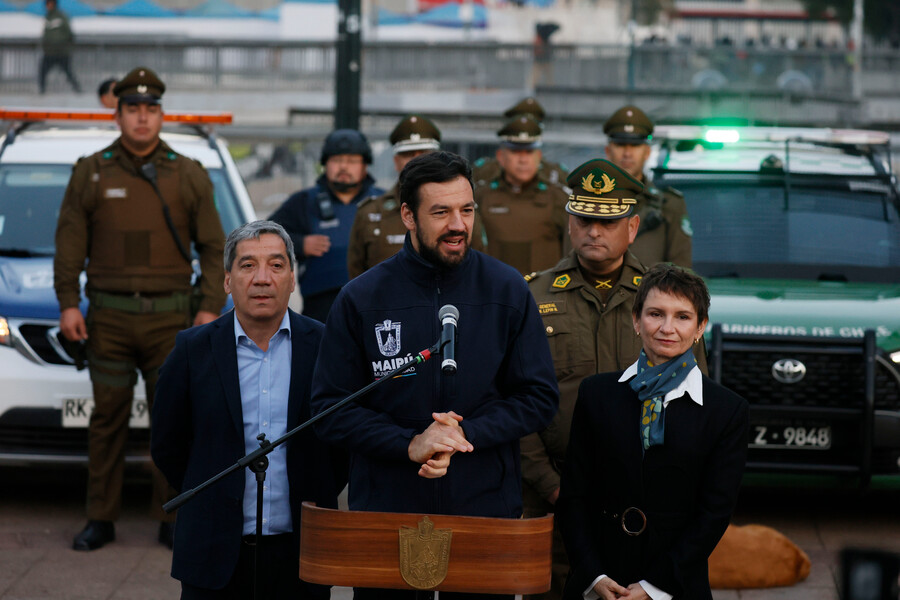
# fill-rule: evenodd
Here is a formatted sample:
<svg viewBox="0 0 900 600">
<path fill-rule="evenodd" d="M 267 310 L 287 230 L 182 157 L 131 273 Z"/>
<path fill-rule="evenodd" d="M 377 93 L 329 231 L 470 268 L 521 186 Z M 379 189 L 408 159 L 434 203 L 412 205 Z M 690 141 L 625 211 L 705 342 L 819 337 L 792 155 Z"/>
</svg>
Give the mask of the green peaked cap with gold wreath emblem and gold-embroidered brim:
<svg viewBox="0 0 900 600">
<path fill-rule="evenodd" d="M 644 191 L 640 181 L 603 158 L 589 160 L 566 179 L 572 190 L 566 212 L 588 219 L 621 219 L 631 216 Z"/>
</svg>

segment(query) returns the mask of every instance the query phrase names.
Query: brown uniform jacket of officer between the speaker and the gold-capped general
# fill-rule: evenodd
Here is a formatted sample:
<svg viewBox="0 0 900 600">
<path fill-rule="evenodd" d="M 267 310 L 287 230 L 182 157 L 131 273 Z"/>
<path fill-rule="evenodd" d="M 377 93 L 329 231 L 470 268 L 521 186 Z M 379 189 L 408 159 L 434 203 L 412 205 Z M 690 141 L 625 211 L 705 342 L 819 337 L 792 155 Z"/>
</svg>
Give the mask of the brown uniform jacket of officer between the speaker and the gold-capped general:
<svg viewBox="0 0 900 600">
<path fill-rule="evenodd" d="M 569 194 L 540 175 L 514 189 L 501 175 L 475 187 L 487 253 L 520 273 L 549 269 L 567 243 Z"/>
</svg>

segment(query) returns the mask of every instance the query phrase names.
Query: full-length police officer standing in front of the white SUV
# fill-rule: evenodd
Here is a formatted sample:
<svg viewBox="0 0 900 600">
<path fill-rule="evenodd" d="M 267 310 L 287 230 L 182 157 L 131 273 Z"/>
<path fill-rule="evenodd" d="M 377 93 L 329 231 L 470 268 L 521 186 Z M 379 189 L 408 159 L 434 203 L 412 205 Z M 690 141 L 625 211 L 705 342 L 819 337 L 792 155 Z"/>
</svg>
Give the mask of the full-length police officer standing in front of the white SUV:
<svg viewBox="0 0 900 600">
<path fill-rule="evenodd" d="M 121 135 L 76 163 L 59 212 L 53 268 L 60 329 L 71 342 L 86 344 L 94 394 L 88 524 L 75 536 L 76 550 L 94 550 L 115 539 L 137 371 L 152 403 L 159 367 L 176 333 L 214 320 L 225 303 L 220 263 L 225 236 L 213 186 L 198 162 L 160 139 L 165 90 L 146 67 L 116 84 Z M 193 317 L 191 243 L 202 269 Z M 78 308 L 83 270 L 90 301 L 86 320 Z M 171 548 L 174 516 L 161 508 L 170 497 L 154 469 L 152 514 L 162 521 L 160 542 Z"/>
</svg>

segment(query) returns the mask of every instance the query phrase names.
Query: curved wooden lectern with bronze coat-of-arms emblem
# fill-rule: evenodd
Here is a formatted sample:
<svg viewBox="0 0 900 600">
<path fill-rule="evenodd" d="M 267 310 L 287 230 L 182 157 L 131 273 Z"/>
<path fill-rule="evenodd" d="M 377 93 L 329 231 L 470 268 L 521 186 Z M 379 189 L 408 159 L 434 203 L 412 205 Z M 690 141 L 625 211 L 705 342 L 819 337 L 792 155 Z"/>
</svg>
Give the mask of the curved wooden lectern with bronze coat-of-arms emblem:
<svg viewBox="0 0 900 600">
<path fill-rule="evenodd" d="M 489 519 L 303 503 L 300 578 L 345 587 L 538 594 L 550 589 L 553 516 Z"/>
</svg>

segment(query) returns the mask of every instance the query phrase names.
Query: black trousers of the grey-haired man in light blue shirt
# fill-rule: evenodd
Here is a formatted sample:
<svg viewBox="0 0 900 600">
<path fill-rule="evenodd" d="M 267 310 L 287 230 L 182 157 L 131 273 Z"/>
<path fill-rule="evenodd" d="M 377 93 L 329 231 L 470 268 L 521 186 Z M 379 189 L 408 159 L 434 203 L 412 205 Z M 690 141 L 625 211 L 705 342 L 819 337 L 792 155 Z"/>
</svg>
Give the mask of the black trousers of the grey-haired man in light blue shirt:
<svg viewBox="0 0 900 600">
<path fill-rule="evenodd" d="M 331 588 L 301 581 L 300 549 L 297 537 L 286 533 L 262 538 L 259 556 L 259 580 L 263 600 L 327 600 Z M 181 600 L 253 600 L 253 549 L 241 542 L 238 564 L 231 581 L 220 590 L 195 587 L 181 583 Z"/>
</svg>

